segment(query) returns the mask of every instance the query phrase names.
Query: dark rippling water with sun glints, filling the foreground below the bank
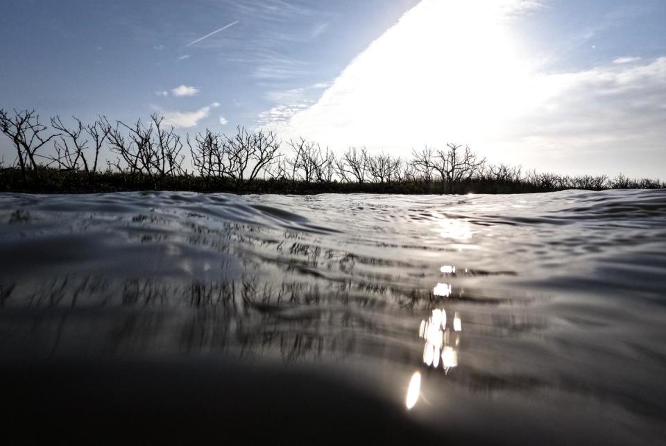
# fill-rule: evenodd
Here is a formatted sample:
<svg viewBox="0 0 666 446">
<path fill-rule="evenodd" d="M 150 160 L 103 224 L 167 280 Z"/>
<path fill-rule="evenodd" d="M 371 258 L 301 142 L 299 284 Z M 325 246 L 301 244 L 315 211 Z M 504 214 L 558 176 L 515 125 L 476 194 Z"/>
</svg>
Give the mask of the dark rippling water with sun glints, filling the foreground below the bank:
<svg viewBox="0 0 666 446">
<path fill-rule="evenodd" d="M 665 444 L 664 190 L 0 209 L 6 416 L 195 443 Z"/>
</svg>

